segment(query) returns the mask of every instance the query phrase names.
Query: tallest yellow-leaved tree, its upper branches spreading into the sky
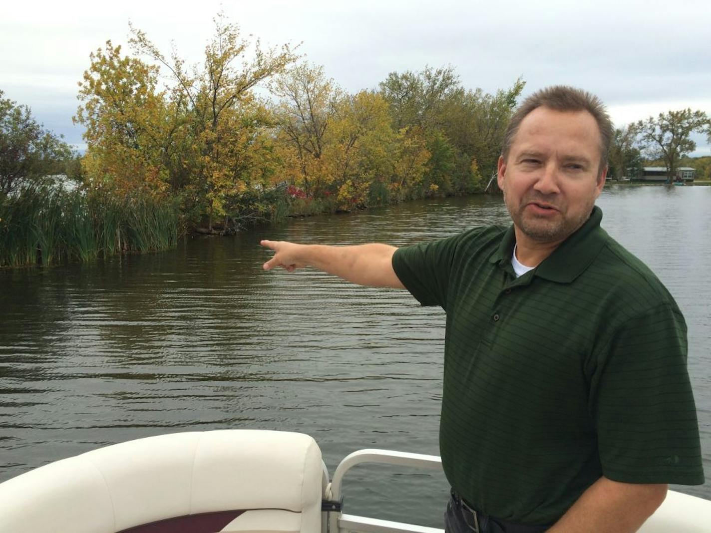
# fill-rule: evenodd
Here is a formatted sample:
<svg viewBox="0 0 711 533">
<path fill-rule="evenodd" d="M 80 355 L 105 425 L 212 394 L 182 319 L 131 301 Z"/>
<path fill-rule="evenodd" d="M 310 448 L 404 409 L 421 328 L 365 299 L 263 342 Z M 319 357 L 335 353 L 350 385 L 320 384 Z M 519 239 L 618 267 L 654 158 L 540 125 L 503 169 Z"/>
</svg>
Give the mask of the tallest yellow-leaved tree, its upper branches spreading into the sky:
<svg viewBox="0 0 711 533">
<path fill-rule="evenodd" d="M 181 198 L 184 209 L 202 218 L 209 232 L 218 217 L 223 230 L 230 221 L 236 224 L 245 200 L 269 185 L 272 173 L 254 168 L 255 159 L 274 164 L 265 137 L 274 122 L 257 102 L 254 89 L 297 58 L 289 45 L 264 49 L 259 40 L 242 38 L 240 28 L 221 13 L 213 21 L 215 35 L 205 46 L 203 65 L 195 66 L 191 74 L 175 51 L 166 58 L 133 26 L 130 40 L 134 50 L 171 72 L 171 100 L 187 109 L 191 143 L 186 156 L 191 157 L 185 163 L 190 177 Z M 267 153 L 257 154 L 260 149 Z"/>
</svg>

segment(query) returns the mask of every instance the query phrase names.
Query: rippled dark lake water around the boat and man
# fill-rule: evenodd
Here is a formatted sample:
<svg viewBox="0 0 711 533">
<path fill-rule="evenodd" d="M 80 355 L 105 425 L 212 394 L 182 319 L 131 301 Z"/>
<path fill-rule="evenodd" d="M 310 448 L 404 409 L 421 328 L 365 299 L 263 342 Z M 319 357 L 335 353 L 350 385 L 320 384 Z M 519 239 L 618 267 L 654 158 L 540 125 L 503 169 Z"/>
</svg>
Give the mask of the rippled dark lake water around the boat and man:
<svg viewBox="0 0 711 533">
<path fill-rule="evenodd" d="M 689 327 L 711 477 L 711 187 L 606 188 L 603 226 L 668 286 Z M 258 242 L 412 244 L 507 223 L 501 198 L 291 220 L 163 254 L 0 271 L 0 481 L 132 438 L 280 429 L 331 474 L 359 448 L 438 454 L 444 313 L 406 291 L 262 271 Z M 443 475 L 361 466 L 346 512 L 442 527 Z M 711 480 L 676 488 L 711 500 Z"/>
</svg>

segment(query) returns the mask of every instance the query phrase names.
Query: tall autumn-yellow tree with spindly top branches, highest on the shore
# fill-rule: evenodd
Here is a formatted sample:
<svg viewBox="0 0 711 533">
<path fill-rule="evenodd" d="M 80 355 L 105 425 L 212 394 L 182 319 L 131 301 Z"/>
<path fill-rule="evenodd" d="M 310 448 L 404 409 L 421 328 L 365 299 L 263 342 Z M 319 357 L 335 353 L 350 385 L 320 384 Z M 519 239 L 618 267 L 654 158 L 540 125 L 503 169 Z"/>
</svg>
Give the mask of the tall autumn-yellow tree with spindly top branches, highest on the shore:
<svg viewBox="0 0 711 533">
<path fill-rule="evenodd" d="M 235 214 L 229 206 L 242 205 L 240 195 L 259 185 L 252 181 L 270 175 L 247 171 L 255 168 L 256 147 L 268 150 L 264 134 L 275 125 L 253 90 L 296 60 L 289 45 L 265 50 L 257 40 L 252 46 L 221 13 L 213 21 L 215 35 L 205 46 L 204 63 L 191 69 L 175 50 L 166 58 L 143 31 L 129 25 L 134 51 L 163 65 L 172 77 L 171 87 L 159 93 L 164 104 L 156 121 L 159 168 L 177 189 L 183 212 L 191 219 L 204 216 L 209 231 L 216 217 Z M 158 70 L 150 65 L 146 77 L 154 81 Z"/>
</svg>

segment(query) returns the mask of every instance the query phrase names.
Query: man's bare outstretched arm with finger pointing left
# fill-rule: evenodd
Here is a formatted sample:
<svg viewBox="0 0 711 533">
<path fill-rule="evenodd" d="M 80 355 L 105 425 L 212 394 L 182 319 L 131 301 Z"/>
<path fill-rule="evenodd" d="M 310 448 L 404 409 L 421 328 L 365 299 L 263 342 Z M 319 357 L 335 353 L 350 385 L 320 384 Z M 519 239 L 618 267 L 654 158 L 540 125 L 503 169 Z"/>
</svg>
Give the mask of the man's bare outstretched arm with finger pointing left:
<svg viewBox="0 0 711 533">
<path fill-rule="evenodd" d="M 281 266 L 292 271 L 304 266 L 313 266 L 355 284 L 405 289 L 392 269 L 392 254 L 395 254 L 397 249 L 394 246 L 324 246 L 269 240 L 263 240 L 261 244 L 274 250 L 274 257 L 264 263 L 264 270 Z"/>
</svg>

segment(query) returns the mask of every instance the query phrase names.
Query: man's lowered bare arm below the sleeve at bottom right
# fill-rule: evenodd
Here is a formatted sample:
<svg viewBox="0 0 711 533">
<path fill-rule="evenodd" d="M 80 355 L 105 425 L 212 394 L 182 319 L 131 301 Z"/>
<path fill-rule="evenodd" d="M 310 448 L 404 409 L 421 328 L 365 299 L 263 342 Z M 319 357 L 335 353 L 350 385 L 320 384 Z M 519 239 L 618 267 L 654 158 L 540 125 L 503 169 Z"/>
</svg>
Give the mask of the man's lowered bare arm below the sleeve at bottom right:
<svg viewBox="0 0 711 533">
<path fill-rule="evenodd" d="M 667 485 L 619 483 L 599 478 L 548 533 L 632 533 L 666 497 Z"/>
</svg>

